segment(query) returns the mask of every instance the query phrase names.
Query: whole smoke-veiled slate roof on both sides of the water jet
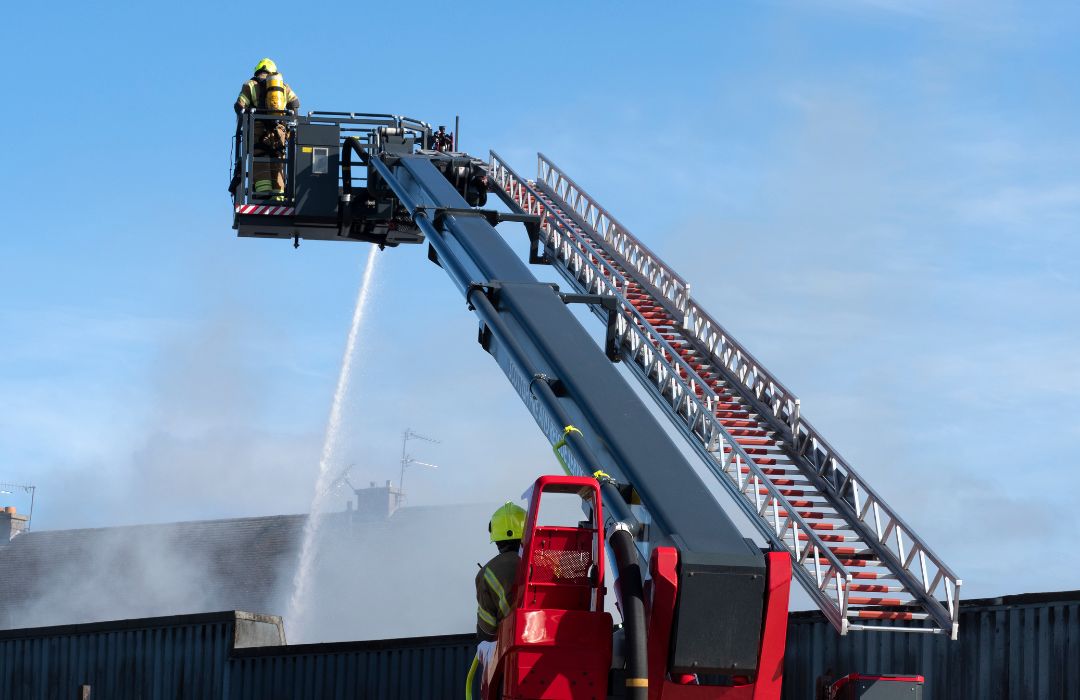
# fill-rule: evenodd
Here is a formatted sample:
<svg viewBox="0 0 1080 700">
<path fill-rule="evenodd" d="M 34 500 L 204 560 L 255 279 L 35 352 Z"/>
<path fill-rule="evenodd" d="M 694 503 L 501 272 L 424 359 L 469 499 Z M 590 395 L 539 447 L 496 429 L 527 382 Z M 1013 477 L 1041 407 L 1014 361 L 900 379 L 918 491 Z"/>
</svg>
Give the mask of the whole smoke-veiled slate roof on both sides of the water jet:
<svg viewBox="0 0 1080 700">
<path fill-rule="evenodd" d="M 325 516 L 315 629 L 291 641 L 469 631 L 476 562 L 494 553 L 492 510 Z M 224 609 L 285 615 L 306 522 L 268 515 L 18 535 L 0 543 L 0 629 Z"/>
</svg>

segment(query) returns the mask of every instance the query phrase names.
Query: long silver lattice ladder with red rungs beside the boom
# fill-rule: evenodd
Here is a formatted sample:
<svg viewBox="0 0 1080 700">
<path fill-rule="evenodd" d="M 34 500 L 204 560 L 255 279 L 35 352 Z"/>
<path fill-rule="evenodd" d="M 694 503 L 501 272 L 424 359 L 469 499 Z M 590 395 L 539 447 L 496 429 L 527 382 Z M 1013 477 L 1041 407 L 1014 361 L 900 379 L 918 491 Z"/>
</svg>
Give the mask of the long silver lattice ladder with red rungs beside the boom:
<svg viewBox="0 0 1080 700">
<path fill-rule="evenodd" d="M 508 205 L 540 217 L 544 261 L 579 292 L 617 299 L 620 352 L 635 376 L 761 534 L 791 553 L 793 574 L 841 634 L 956 638 L 960 579 L 683 278 L 543 154 L 527 181 L 492 151 L 489 177 Z"/>
</svg>

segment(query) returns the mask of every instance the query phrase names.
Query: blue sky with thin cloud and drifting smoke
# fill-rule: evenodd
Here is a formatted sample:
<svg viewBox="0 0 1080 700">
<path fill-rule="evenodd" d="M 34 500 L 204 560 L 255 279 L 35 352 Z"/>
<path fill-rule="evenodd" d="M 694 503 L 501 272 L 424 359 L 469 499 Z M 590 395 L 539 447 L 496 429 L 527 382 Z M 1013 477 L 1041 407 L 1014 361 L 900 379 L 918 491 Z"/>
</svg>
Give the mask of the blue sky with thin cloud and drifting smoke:
<svg viewBox="0 0 1080 700">
<path fill-rule="evenodd" d="M 38 527 L 310 501 L 365 248 L 229 228 L 231 103 L 269 55 L 306 110 L 460 113 L 464 148 L 523 172 L 542 150 L 967 595 L 1080 587 L 1077 6 L 410 8 L 8 10 L 0 479 L 39 486 Z M 417 448 L 441 469 L 409 475 L 415 503 L 553 469 L 423 251 L 378 265 L 356 479 L 396 479 L 406 427 L 443 440 Z"/>
</svg>

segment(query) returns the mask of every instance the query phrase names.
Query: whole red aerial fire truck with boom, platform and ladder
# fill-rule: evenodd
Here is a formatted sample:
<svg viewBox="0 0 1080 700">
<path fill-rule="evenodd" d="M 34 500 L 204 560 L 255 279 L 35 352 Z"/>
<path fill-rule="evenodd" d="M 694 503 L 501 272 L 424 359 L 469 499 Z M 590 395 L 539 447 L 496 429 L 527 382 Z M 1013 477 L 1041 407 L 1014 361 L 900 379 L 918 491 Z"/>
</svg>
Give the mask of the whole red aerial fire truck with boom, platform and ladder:
<svg viewBox="0 0 1080 700">
<path fill-rule="evenodd" d="M 268 122 L 284 122 L 288 144 L 259 156 L 253 135 Z M 382 113 L 247 111 L 234 146 L 240 237 L 426 245 L 565 471 L 531 489 L 485 700 L 780 698 L 793 579 L 839 634 L 956 638 L 957 575 L 687 280 L 551 159 L 527 179 L 494 151 L 436 148 L 427 122 Z M 268 167 L 283 191 L 256 191 L 253 173 Z M 527 256 L 504 238 L 522 229 Z M 538 520 L 553 494 L 579 498 L 583 520 Z M 920 686 L 850 674 L 820 695 L 913 698 Z"/>
</svg>

